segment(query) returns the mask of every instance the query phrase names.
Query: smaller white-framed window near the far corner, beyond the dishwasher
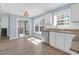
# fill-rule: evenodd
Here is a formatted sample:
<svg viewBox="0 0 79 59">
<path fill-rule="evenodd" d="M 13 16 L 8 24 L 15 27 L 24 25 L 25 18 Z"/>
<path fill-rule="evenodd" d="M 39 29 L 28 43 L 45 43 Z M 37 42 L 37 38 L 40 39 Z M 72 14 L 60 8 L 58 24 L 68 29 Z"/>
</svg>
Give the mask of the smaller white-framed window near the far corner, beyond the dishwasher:
<svg viewBox="0 0 79 59">
<path fill-rule="evenodd" d="M 38 20 L 38 19 L 36 19 L 35 21 L 34 21 L 34 24 L 35 24 L 35 32 L 42 32 L 42 30 L 44 29 L 44 23 L 45 21 L 44 21 L 44 19 L 42 19 L 42 20 Z"/>
</svg>

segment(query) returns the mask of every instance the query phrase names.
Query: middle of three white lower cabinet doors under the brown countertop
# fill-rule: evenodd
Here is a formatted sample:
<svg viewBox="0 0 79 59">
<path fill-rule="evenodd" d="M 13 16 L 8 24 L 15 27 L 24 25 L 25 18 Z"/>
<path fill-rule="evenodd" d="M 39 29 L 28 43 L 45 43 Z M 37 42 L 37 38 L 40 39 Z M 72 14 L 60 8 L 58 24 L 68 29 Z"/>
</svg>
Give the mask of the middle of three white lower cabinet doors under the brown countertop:
<svg viewBox="0 0 79 59">
<path fill-rule="evenodd" d="M 56 48 L 64 51 L 64 33 L 56 33 Z"/>
</svg>

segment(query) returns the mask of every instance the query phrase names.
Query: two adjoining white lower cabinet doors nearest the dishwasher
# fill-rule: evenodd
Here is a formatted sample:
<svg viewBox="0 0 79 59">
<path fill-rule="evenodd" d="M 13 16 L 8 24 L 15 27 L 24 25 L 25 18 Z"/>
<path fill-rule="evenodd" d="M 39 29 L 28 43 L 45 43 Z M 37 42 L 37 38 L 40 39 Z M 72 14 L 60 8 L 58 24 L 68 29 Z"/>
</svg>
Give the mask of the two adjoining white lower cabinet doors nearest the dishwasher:
<svg viewBox="0 0 79 59">
<path fill-rule="evenodd" d="M 49 42 L 50 42 L 51 46 L 64 51 L 64 48 L 65 48 L 64 33 L 50 32 L 50 41 Z"/>
</svg>

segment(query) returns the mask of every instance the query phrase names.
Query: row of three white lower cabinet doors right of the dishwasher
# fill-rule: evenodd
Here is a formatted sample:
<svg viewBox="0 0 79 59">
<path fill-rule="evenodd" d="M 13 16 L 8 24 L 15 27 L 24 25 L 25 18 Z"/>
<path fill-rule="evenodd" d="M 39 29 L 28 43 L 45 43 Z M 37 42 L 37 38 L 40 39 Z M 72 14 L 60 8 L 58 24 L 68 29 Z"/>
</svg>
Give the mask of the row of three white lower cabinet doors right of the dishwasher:
<svg viewBox="0 0 79 59">
<path fill-rule="evenodd" d="M 75 34 L 50 32 L 49 43 L 57 49 L 72 54 L 73 51 L 70 50 L 70 47 L 74 37 Z"/>
</svg>

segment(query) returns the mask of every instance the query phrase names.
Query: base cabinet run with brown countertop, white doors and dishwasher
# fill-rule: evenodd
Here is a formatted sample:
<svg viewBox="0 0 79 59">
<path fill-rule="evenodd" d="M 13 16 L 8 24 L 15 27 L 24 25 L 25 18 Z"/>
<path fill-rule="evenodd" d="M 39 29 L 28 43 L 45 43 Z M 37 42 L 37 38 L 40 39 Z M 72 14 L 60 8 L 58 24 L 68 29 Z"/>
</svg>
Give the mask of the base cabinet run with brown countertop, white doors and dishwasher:
<svg viewBox="0 0 79 59">
<path fill-rule="evenodd" d="M 42 31 L 42 41 L 69 54 L 79 54 L 70 50 L 72 41 L 78 34 L 79 29 L 46 29 Z"/>
</svg>

